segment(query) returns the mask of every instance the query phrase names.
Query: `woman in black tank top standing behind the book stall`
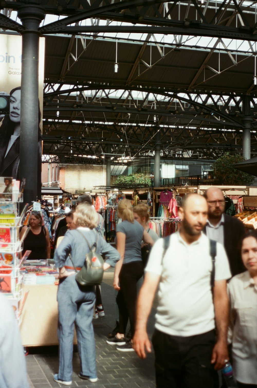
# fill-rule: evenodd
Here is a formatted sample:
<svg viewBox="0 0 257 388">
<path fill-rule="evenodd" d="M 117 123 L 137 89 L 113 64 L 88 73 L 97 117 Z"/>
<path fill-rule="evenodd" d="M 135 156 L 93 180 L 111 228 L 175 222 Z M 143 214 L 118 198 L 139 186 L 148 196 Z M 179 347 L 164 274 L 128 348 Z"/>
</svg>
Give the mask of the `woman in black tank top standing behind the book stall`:
<svg viewBox="0 0 257 388">
<path fill-rule="evenodd" d="M 41 226 L 42 218 L 39 211 L 32 211 L 29 217 L 30 230 L 23 242 L 22 255 L 31 251 L 28 260 L 41 260 L 50 258 L 50 236 L 48 230 Z M 25 233 L 27 226 L 21 230 L 20 238 Z"/>
</svg>

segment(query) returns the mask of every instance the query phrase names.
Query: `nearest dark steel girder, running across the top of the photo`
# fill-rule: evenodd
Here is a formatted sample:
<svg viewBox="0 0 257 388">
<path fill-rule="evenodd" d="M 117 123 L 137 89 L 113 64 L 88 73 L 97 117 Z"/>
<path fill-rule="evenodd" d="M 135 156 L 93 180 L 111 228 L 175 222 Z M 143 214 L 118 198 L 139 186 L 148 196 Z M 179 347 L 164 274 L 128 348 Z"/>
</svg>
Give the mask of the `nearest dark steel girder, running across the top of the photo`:
<svg viewBox="0 0 257 388">
<path fill-rule="evenodd" d="M 240 40 L 256 41 L 256 8 L 254 3 L 226 0 L 221 3 L 197 0 L 59 0 L 53 4 L 47 0 L 36 2 L 4 1 L 2 7 L 18 10 L 24 5 L 36 3 L 45 9 L 47 14 L 66 15 L 64 19 L 42 26 L 41 34 L 49 33 L 83 33 L 83 32 L 118 32 L 114 26 L 70 26 L 89 19 L 98 18 L 111 21 L 130 23 L 130 27 L 122 26 L 119 31 L 144 33 L 168 33 L 178 35 L 215 36 Z M 233 18 L 230 25 L 228 19 Z M 238 24 L 237 24 L 238 20 Z M 145 25 L 144 27 L 136 24 Z M 135 27 L 133 26 L 135 25 Z M 155 26 L 153 29 L 152 26 Z M 21 31 L 18 23 L 7 23 L 0 16 L 0 27 Z M 120 27 L 119 27 L 120 28 Z M 23 29 L 23 28 L 22 28 Z"/>
</svg>

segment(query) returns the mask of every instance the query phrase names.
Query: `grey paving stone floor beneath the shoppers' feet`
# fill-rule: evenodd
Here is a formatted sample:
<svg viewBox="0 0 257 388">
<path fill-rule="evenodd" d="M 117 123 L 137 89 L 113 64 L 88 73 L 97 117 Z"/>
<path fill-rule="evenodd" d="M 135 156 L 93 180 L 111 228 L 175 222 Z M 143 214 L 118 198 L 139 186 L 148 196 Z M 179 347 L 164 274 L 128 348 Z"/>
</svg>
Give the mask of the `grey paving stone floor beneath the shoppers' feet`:
<svg viewBox="0 0 257 388">
<path fill-rule="evenodd" d="M 140 360 L 134 352 L 118 352 L 115 346 L 106 343 L 107 334 L 115 326 L 114 289 L 112 287 L 113 270 L 105 273 L 102 283 L 102 301 L 105 317 L 94 319 L 96 352 L 97 352 L 97 383 L 79 379 L 79 356 L 74 346 L 73 375 L 70 387 L 91 388 L 154 388 L 154 354 L 146 360 Z M 154 312 L 149 319 L 148 333 L 154 330 Z M 58 346 L 29 348 L 26 356 L 30 388 L 63 387 L 53 381 L 53 374 L 58 372 Z"/>
</svg>

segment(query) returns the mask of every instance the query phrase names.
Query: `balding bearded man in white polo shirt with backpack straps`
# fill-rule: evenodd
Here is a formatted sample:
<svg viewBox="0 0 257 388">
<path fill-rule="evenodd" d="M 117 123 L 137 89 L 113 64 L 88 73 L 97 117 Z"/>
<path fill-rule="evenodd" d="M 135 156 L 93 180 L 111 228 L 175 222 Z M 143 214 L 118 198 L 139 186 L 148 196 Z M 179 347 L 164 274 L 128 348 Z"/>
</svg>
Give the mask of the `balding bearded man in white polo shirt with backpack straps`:
<svg viewBox="0 0 257 388">
<path fill-rule="evenodd" d="M 202 233 L 205 198 L 186 196 L 179 217 L 181 228 L 171 235 L 164 257 L 163 239 L 152 248 L 138 297 L 133 348 L 142 359 L 151 352 L 147 320 L 159 286 L 152 338 L 157 388 L 213 388 L 216 370 L 228 360 L 226 279 L 231 273 L 226 252 L 217 243 L 212 296 L 210 240 Z"/>
</svg>

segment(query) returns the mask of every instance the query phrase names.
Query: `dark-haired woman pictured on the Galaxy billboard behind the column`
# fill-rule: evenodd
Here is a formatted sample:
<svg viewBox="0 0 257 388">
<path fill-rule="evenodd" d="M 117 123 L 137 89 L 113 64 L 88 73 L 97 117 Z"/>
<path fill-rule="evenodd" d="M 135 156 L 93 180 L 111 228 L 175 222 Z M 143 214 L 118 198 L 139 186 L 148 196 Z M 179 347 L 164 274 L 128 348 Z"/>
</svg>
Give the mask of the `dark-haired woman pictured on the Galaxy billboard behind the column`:
<svg viewBox="0 0 257 388">
<path fill-rule="evenodd" d="M 2 93 L 2 92 L 1 92 Z M 41 163 L 41 112 L 38 105 L 38 161 Z M 21 87 L 10 91 L 10 114 L 0 115 L 0 176 L 19 178 Z"/>
</svg>

